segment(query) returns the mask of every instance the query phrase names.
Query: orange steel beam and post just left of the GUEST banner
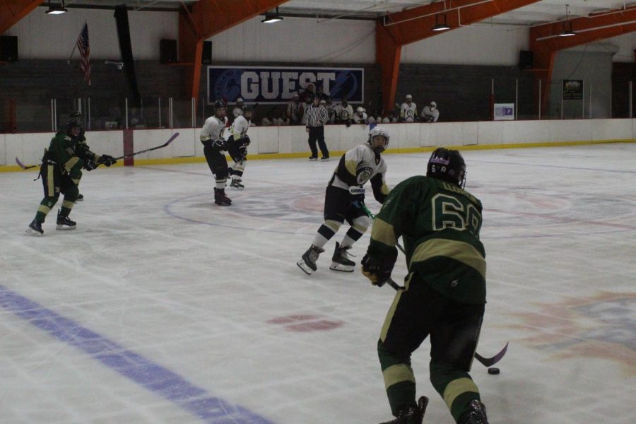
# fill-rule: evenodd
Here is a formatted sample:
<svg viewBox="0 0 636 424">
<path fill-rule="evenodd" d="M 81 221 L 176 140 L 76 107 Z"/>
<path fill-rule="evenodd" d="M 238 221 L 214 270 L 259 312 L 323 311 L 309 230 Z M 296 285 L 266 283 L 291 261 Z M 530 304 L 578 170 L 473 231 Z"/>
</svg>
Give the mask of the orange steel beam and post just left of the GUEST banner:
<svg viewBox="0 0 636 424">
<path fill-rule="evenodd" d="M 1 0 L 0 0 L 1 1 Z M 265 13 L 287 0 L 199 0 L 192 11 L 179 12 L 179 56 L 188 68 L 190 97 L 199 97 L 201 55 L 206 38 Z"/>
</svg>

